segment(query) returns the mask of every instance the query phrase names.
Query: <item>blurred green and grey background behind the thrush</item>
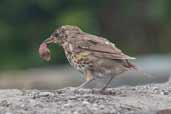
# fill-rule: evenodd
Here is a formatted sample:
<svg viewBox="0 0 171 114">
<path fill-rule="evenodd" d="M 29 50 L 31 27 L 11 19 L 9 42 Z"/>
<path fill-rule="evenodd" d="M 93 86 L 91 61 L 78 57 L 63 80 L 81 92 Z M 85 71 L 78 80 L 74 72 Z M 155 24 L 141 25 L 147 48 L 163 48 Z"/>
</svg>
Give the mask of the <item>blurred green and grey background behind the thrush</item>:
<svg viewBox="0 0 171 114">
<path fill-rule="evenodd" d="M 103 36 L 130 56 L 140 71 L 112 86 L 167 81 L 171 72 L 170 0 L 0 0 L 0 88 L 57 89 L 84 77 L 68 65 L 60 46 L 52 60 L 38 55 L 41 42 L 61 25 Z M 143 71 L 152 76 L 144 76 Z"/>
</svg>

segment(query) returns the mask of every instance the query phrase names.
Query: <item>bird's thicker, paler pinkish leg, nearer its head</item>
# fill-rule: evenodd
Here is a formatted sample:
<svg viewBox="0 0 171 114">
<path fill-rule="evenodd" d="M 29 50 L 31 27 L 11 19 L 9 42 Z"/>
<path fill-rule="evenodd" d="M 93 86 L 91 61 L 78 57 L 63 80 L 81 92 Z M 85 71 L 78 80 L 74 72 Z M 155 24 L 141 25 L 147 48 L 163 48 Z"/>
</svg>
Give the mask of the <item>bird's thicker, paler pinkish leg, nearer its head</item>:
<svg viewBox="0 0 171 114">
<path fill-rule="evenodd" d="M 89 84 L 91 81 L 94 80 L 94 77 L 93 77 L 91 71 L 86 71 L 86 72 L 85 72 L 85 76 L 86 76 L 86 81 L 85 81 L 84 83 L 82 83 L 82 84 L 78 87 L 78 89 L 85 87 L 87 84 Z"/>
</svg>

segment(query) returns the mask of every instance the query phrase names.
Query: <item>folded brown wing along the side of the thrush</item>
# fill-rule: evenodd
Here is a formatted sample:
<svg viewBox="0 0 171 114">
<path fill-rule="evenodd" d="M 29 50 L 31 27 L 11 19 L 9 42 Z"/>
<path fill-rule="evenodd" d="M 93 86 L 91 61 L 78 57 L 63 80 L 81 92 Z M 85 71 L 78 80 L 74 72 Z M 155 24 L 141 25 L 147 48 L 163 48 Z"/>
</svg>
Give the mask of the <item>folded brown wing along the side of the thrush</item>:
<svg viewBox="0 0 171 114">
<path fill-rule="evenodd" d="M 102 38 L 90 34 L 79 35 L 75 38 L 74 44 L 80 50 L 87 50 L 94 56 L 109 58 L 109 59 L 135 59 L 124 54 L 113 43 Z M 74 47 L 75 47 L 74 46 Z"/>
</svg>

